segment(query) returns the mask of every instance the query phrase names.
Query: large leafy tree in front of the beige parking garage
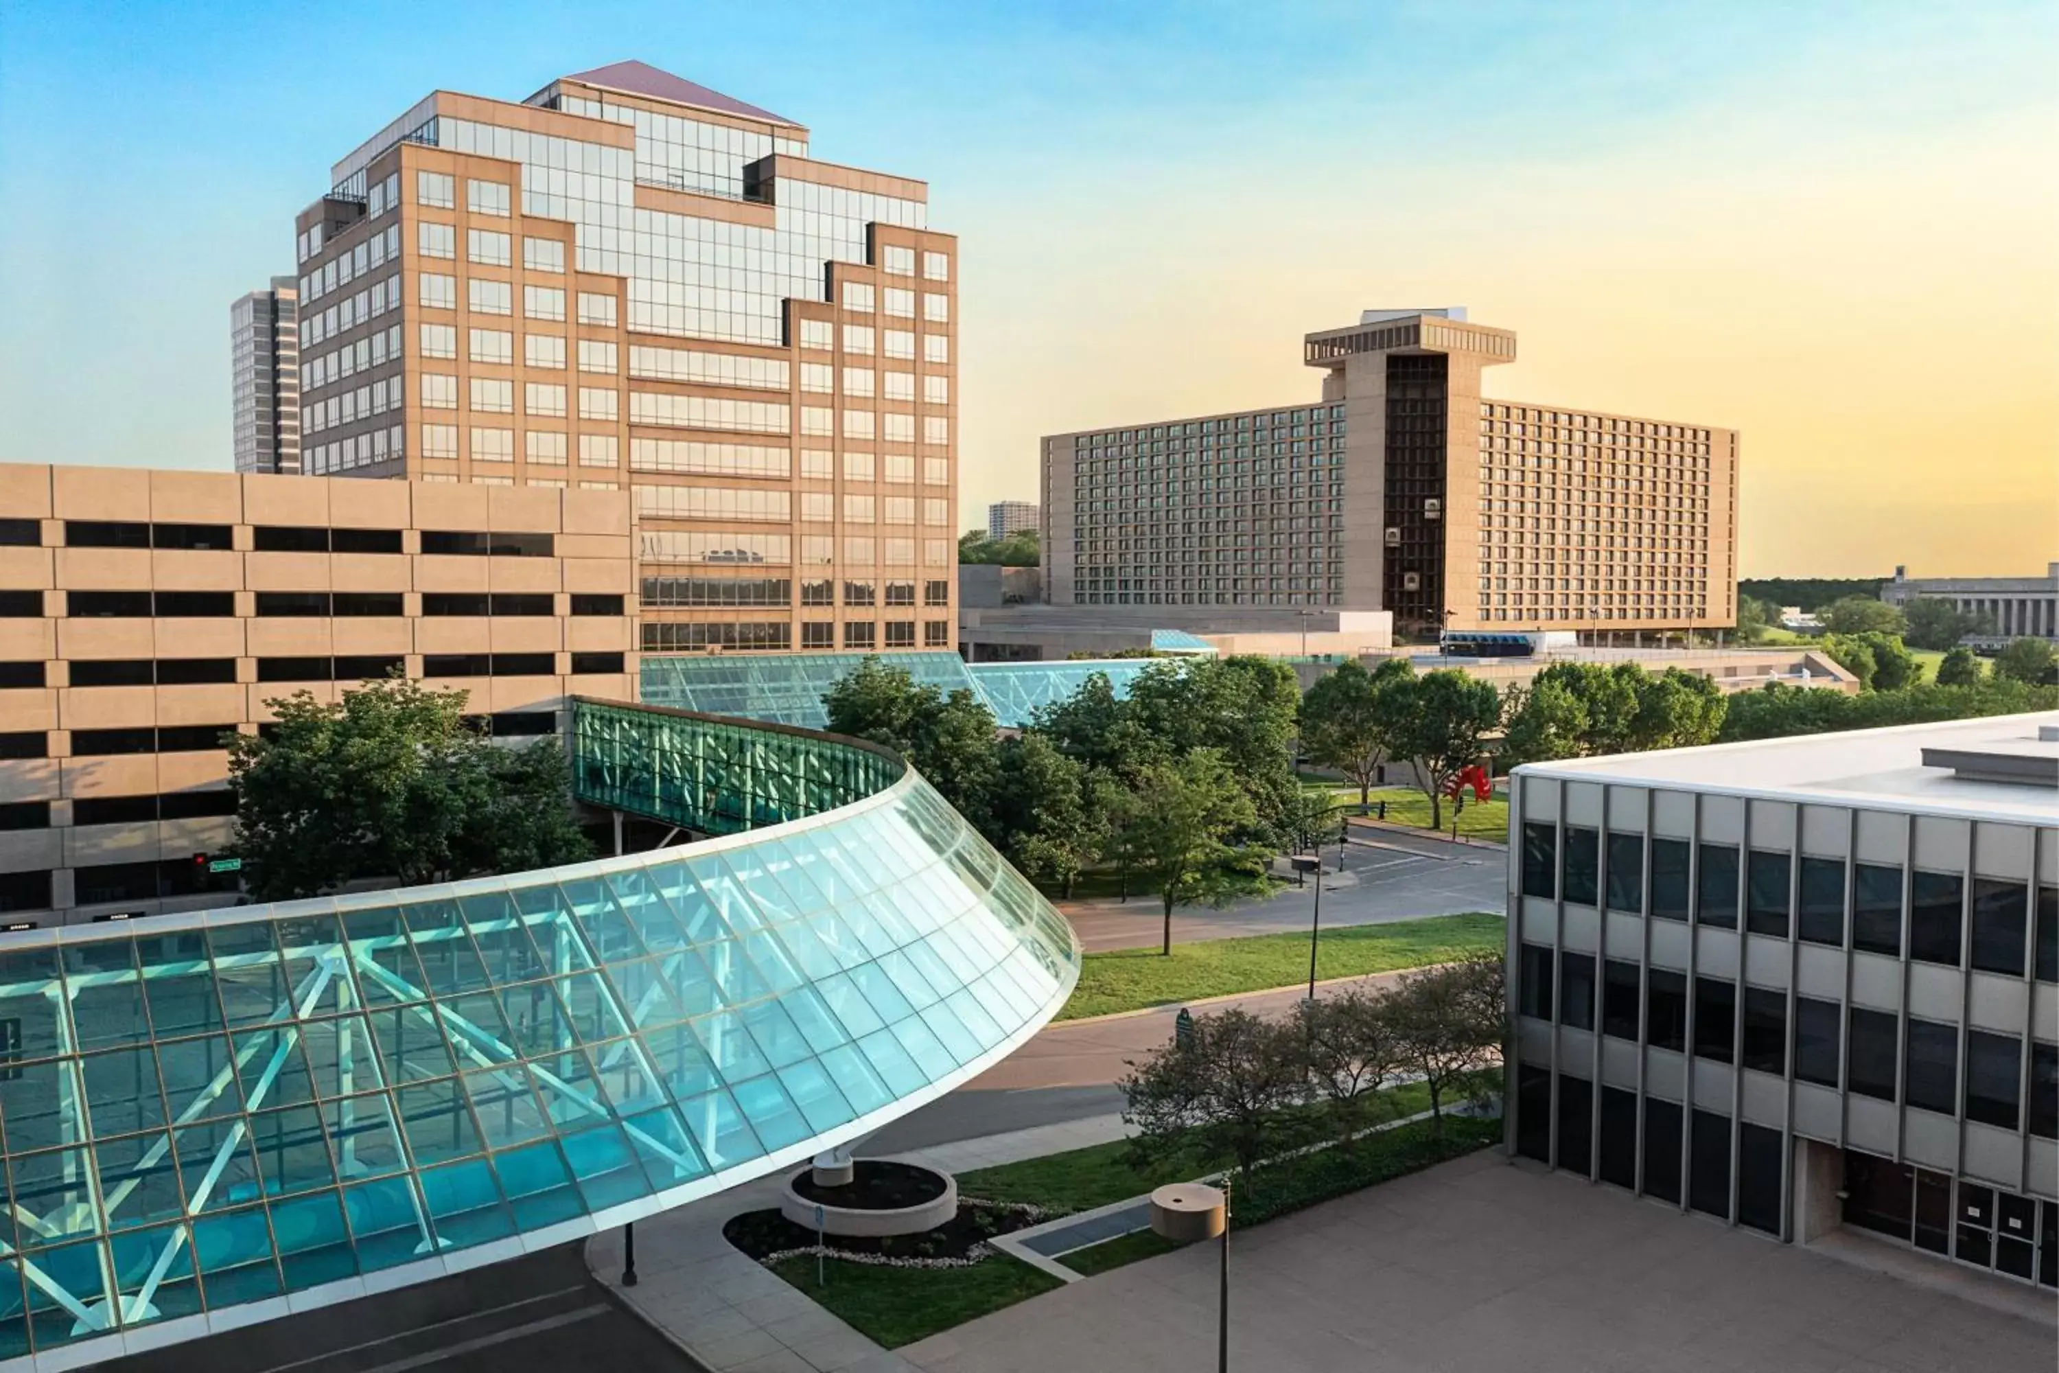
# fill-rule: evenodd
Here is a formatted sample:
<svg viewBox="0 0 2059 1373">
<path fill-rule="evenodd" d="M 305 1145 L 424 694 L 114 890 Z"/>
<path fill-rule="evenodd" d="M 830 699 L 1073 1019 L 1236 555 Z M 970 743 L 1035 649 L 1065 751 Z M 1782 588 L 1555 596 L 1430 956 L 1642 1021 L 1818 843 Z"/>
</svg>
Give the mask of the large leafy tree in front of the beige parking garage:
<svg viewBox="0 0 2059 1373">
<path fill-rule="evenodd" d="M 309 692 L 268 704 L 276 718 L 268 735 L 229 739 L 233 852 L 261 902 L 591 854 L 558 743 L 490 743 L 463 723 L 465 692 L 391 679 L 331 704 Z"/>
</svg>

